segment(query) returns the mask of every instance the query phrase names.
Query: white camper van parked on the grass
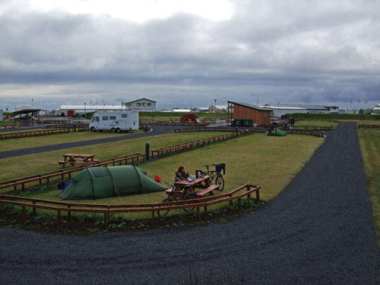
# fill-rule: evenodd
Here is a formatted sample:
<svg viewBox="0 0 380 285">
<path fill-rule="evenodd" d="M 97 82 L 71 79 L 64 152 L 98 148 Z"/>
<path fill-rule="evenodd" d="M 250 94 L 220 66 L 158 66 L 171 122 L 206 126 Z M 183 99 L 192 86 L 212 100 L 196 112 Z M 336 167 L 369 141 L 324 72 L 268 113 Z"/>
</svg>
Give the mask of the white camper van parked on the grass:
<svg viewBox="0 0 380 285">
<path fill-rule="evenodd" d="M 111 130 L 113 133 L 138 130 L 138 112 L 98 111 L 92 115 L 90 130 Z"/>
</svg>

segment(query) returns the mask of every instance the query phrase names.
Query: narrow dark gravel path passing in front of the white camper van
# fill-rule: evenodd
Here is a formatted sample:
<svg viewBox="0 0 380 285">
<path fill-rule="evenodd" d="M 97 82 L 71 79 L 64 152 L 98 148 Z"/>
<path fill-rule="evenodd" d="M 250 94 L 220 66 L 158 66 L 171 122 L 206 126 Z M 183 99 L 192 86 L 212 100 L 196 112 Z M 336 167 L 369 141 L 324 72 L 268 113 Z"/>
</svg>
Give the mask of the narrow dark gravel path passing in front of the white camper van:
<svg viewBox="0 0 380 285">
<path fill-rule="evenodd" d="M 96 140 L 83 140 L 83 141 L 74 142 L 74 143 L 60 143 L 57 145 L 43 145 L 40 147 L 23 148 L 20 150 L 8 150 L 5 152 L 0 152 L 0 159 L 9 158 L 9 157 L 18 157 L 21 155 L 33 155 L 35 153 L 50 152 L 52 150 L 64 150 L 66 148 L 72 148 L 72 147 L 83 147 L 86 145 L 97 145 L 99 143 L 114 143 L 114 142 L 118 142 L 120 140 L 130 140 L 133 138 L 145 138 L 145 137 L 150 137 L 152 135 L 163 135 L 164 133 L 172 133 L 174 128 L 177 128 L 177 126 L 175 126 L 175 125 L 155 125 L 152 131 L 145 132 L 145 133 L 135 133 L 135 134 L 130 134 L 130 135 L 119 135 L 119 136 L 112 136 L 109 138 L 99 138 Z M 11 142 L 11 140 L 9 140 L 9 141 Z"/>
</svg>

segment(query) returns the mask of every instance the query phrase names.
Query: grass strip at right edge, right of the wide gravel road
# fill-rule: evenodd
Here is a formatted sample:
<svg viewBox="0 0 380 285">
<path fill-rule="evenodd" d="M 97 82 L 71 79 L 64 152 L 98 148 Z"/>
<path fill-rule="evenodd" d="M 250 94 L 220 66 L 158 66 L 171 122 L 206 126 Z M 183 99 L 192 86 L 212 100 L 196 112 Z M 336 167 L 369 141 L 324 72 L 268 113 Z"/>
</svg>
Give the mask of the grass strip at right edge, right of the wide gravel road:
<svg viewBox="0 0 380 285">
<path fill-rule="evenodd" d="M 376 233 L 380 237 L 380 131 L 357 130 L 372 203 Z M 380 246 L 380 241 L 379 241 Z"/>
</svg>

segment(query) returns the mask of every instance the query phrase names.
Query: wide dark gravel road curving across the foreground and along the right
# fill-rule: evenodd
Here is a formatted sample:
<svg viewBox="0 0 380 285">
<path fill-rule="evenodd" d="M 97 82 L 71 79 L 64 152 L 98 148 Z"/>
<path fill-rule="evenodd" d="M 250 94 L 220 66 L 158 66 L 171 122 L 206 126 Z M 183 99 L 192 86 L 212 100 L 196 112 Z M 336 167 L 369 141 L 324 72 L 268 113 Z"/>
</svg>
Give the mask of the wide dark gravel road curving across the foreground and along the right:
<svg viewBox="0 0 380 285">
<path fill-rule="evenodd" d="M 0 283 L 190 284 L 191 267 L 198 284 L 380 284 L 376 240 L 356 127 L 340 123 L 276 199 L 233 222 L 90 237 L 0 228 Z"/>
</svg>

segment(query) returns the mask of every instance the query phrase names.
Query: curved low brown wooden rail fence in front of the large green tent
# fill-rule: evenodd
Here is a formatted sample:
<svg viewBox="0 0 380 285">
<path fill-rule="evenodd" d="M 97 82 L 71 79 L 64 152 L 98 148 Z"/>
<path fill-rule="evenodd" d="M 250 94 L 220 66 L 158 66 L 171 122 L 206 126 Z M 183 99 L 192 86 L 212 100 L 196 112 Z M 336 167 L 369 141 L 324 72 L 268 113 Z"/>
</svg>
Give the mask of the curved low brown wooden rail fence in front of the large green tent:
<svg viewBox="0 0 380 285">
<path fill-rule="evenodd" d="M 246 192 L 235 195 L 242 189 L 246 189 Z M 5 204 L 13 206 L 21 206 L 23 223 L 26 222 L 26 208 L 32 208 L 33 216 L 36 215 L 36 209 L 45 209 L 49 211 L 57 211 L 57 223 L 62 225 L 62 212 L 67 212 L 67 219 L 72 220 L 71 213 L 103 213 L 104 214 L 104 228 L 108 228 L 108 218 L 111 213 L 152 213 L 152 225 L 155 224 L 155 212 L 174 210 L 181 208 L 196 207 L 196 213 L 199 214 L 200 208 L 203 207 L 203 214 L 206 217 L 208 213 L 208 206 L 229 202 L 230 206 L 233 205 L 233 200 L 238 200 L 238 211 L 241 211 L 242 198 L 247 196 L 247 199 L 251 198 L 251 194 L 256 192 L 256 200 L 260 201 L 259 189 L 261 186 L 254 184 L 244 184 L 239 188 L 230 191 L 226 194 L 220 194 L 215 196 L 208 196 L 200 199 L 172 201 L 164 203 L 144 203 L 144 204 L 92 204 L 92 203 L 68 203 L 61 201 L 50 201 L 45 199 L 34 199 L 20 196 L 2 195 L 0 194 L 0 203 L 4 207 Z M 50 206 L 57 205 L 57 206 Z"/>
</svg>

